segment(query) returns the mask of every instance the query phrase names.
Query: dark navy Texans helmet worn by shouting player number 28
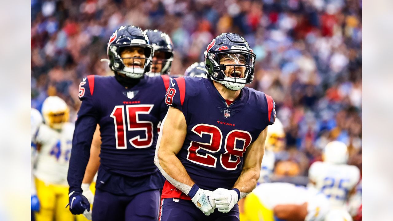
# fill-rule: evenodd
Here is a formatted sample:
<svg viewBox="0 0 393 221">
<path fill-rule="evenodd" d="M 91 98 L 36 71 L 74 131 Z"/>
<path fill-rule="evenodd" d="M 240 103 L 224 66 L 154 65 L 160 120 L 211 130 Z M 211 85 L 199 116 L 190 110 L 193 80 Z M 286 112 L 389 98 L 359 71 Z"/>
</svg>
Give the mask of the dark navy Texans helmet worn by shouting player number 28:
<svg viewBox="0 0 393 221">
<path fill-rule="evenodd" d="M 234 64 L 220 64 L 224 56 L 237 58 L 241 62 Z M 246 84 L 250 84 L 254 78 L 255 54 L 248 45 L 246 39 L 236 33 L 222 33 L 215 37 L 205 52 L 205 64 L 208 76 L 230 90 L 240 90 Z M 233 66 L 233 77 L 226 76 L 226 68 Z M 244 67 L 244 78 L 236 77 L 236 67 Z"/>
</svg>

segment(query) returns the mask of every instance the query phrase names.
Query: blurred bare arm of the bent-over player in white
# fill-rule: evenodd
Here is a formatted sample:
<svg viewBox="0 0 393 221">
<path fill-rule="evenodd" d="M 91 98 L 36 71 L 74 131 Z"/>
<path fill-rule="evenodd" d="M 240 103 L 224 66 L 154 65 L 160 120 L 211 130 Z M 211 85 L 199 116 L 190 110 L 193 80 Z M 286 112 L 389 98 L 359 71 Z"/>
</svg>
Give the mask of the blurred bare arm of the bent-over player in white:
<svg viewBox="0 0 393 221">
<path fill-rule="evenodd" d="M 286 221 L 304 221 L 307 215 L 307 203 L 280 204 L 273 208 L 274 216 Z"/>
</svg>

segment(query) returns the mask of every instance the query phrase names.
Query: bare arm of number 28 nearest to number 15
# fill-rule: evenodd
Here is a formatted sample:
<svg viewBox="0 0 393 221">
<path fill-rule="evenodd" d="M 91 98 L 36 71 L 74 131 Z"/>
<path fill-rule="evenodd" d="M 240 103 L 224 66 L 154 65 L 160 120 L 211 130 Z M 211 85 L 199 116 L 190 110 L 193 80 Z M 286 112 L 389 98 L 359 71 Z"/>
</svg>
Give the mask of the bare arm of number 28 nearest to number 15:
<svg viewBox="0 0 393 221">
<path fill-rule="evenodd" d="M 179 109 L 169 107 L 167 116 L 165 117 L 161 128 L 161 140 L 158 147 L 156 165 L 160 168 L 164 177 L 171 182 L 176 180 L 182 184 L 187 185 L 189 188 L 181 189 L 184 193 L 188 193 L 194 181 L 189 177 L 187 171 L 176 154 L 182 148 L 185 135 L 187 134 L 187 124 L 185 117 Z M 163 171 L 162 171 L 163 170 Z M 178 186 L 171 182 L 174 186 Z"/>
</svg>

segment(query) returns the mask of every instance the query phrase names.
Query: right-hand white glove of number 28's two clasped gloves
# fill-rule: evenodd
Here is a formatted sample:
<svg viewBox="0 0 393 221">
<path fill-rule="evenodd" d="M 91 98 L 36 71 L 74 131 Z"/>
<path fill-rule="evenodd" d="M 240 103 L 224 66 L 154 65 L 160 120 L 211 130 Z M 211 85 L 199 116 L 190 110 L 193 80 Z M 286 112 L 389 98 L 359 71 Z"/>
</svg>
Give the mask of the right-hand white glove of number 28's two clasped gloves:
<svg viewBox="0 0 393 221">
<path fill-rule="evenodd" d="M 214 192 L 216 208 L 222 213 L 231 211 L 233 206 L 239 201 L 239 196 L 235 190 L 218 188 Z"/>
</svg>

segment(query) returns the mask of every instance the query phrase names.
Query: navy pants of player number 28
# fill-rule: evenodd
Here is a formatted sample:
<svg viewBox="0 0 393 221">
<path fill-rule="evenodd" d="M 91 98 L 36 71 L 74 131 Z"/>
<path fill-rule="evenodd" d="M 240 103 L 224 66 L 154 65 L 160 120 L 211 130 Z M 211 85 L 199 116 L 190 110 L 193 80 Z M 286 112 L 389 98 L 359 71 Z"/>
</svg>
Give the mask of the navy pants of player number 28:
<svg viewBox="0 0 393 221">
<path fill-rule="evenodd" d="M 95 203 L 95 201 L 94 201 Z M 239 206 L 236 204 L 228 213 L 205 215 L 191 200 L 167 198 L 161 200 L 159 221 L 239 221 Z M 94 219 L 93 219 L 94 221 Z"/>
</svg>

